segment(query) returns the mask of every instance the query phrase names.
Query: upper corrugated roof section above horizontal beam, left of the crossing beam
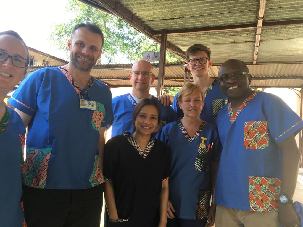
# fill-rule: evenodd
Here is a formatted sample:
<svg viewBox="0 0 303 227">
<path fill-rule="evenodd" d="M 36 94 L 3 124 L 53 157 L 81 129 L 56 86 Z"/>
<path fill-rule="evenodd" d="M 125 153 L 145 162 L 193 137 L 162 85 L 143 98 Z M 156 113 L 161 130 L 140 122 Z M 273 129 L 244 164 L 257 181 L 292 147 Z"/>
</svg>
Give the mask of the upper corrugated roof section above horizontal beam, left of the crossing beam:
<svg viewBox="0 0 303 227">
<path fill-rule="evenodd" d="M 118 0 L 155 31 L 256 22 L 257 1 Z"/>
</svg>

